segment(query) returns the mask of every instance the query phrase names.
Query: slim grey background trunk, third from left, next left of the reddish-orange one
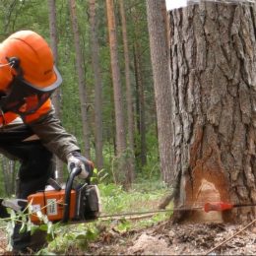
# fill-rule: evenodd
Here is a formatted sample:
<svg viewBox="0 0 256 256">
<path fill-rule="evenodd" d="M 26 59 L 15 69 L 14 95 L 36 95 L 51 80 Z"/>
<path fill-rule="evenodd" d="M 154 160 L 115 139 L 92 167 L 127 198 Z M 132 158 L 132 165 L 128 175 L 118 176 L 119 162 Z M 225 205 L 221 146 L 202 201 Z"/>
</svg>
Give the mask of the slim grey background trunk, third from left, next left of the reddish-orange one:
<svg viewBox="0 0 256 256">
<path fill-rule="evenodd" d="M 96 130 L 96 168 L 103 168 L 103 134 L 102 134 L 102 78 L 99 64 L 99 52 L 96 27 L 96 0 L 90 0 L 90 26 L 92 43 L 92 62 L 95 74 L 95 130 Z"/>
</svg>

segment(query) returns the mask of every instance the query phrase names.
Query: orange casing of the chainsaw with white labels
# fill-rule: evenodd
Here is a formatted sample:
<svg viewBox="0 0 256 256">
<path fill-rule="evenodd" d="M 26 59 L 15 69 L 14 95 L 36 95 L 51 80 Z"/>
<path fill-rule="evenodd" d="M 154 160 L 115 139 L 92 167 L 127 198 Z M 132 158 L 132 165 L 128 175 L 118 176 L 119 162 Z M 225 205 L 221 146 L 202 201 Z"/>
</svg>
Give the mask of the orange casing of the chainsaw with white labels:
<svg viewBox="0 0 256 256">
<path fill-rule="evenodd" d="M 64 212 L 65 189 L 49 190 L 37 192 L 28 197 L 29 203 L 32 205 L 31 221 L 34 224 L 40 223 L 36 212 L 40 211 L 46 215 L 51 222 L 60 221 L 63 218 Z M 70 219 L 73 219 L 76 214 L 76 191 L 71 190 L 70 198 Z"/>
</svg>

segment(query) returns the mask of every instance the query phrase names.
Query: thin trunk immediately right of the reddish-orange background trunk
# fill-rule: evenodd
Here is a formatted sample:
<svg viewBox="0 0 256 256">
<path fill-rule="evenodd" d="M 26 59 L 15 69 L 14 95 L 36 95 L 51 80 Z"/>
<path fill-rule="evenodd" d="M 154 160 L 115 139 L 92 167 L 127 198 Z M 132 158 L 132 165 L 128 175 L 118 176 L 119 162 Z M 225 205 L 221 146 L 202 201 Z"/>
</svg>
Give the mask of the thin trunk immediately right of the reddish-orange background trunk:
<svg viewBox="0 0 256 256">
<path fill-rule="evenodd" d="M 125 85 L 127 98 L 127 116 L 128 116 L 128 142 L 129 142 L 129 161 L 130 170 L 128 178 L 130 183 L 134 180 L 134 121 L 133 121 L 133 90 L 130 80 L 130 57 L 127 39 L 126 17 L 123 0 L 119 0 L 120 15 L 122 22 L 123 47 L 124 47 L 124 63 L 125 63 Z"/>
</svg>

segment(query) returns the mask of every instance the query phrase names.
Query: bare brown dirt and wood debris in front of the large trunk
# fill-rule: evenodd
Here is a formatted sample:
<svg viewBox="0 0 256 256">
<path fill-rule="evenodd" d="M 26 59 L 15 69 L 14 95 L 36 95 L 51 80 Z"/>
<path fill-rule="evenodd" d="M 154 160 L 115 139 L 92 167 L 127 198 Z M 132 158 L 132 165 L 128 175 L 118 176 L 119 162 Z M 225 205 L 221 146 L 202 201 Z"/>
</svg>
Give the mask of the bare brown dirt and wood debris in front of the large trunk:
<svg viewBox="0 0 256 256">
<path fill-rule="evenodd" d="M 166 222 L 126 233 L 105 230 L 90 249 L 93 255 L 256 255 L 253 225 L 210 252 L 245 225 Z"/>
</svg>

